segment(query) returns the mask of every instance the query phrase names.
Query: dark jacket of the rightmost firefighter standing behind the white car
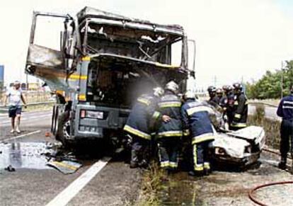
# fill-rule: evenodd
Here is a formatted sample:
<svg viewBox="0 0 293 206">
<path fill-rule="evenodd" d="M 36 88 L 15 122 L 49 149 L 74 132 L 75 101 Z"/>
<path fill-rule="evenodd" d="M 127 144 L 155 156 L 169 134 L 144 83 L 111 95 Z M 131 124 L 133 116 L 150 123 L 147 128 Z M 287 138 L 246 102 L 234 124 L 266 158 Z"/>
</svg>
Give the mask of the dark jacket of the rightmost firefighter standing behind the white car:
<svg viewBox="0 0 293 206">
<path fill-rule="evenodd" d="M 234 117 L 231 127 L 246 127 L 248 117 L 248 102 L 244 93 L 234 96 Z"/>
</svg>

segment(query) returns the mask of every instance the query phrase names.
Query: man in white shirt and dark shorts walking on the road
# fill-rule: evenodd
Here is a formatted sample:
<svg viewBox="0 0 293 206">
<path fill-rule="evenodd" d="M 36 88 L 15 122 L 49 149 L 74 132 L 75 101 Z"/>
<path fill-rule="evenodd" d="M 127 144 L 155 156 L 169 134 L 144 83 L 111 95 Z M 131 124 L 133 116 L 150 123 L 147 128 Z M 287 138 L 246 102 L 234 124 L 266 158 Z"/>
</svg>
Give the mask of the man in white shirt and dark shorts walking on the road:
<svg viewBox="0 0 293 206">
<path fill-rule="evenodd" d="M 8 99 L 8 115 L 11 118 L 11 133 L 17 132 L 21 133 L 19 130 L 19 125 L 21 123 L 21 101 L 23 101 L 24 107 L 26 108 L 26 103 L 23 98 L 23 93 L 21 91 L 21 82 L 15 81 L 12 88 L 6 92 L 6 97 L 4 100 L 4 106 L 6 106 Z M 16 126 L 15 126 L 16 120 Z"/>
</svg>

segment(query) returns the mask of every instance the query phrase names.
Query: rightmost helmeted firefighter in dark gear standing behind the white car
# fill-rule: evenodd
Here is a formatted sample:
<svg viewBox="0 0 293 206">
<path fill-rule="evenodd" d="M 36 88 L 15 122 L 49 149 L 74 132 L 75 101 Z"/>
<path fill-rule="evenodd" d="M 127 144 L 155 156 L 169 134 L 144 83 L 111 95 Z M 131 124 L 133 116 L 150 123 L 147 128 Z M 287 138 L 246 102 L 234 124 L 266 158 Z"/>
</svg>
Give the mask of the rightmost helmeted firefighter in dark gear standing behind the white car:
<svg viewBox="0 0 293 206">
<path fill-rule="evenodd" d="M 248 103 L 245 94 L 243 93 L 242 85 L 239 83 L 233 84 L 234 87 L 234 110 L 233 120 L 230 125 L 230 130 L 240 130 L 246 127 L 248 116 Z"/>
</svg>

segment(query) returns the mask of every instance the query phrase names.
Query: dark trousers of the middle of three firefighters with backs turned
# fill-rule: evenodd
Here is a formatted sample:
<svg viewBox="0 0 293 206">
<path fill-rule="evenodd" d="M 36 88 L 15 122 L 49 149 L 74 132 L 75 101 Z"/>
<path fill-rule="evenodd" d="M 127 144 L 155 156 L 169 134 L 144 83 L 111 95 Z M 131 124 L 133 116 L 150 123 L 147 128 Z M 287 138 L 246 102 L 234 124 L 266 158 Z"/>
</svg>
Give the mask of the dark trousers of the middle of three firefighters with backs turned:
<svg viewBox="0 0 293 206">
<path fill-rule="evenodd" d="M 176 170 L 178 168 L 178 152 L 180 137 L 160 137 L 157 139 L 161 168 Z"/>
</svg>

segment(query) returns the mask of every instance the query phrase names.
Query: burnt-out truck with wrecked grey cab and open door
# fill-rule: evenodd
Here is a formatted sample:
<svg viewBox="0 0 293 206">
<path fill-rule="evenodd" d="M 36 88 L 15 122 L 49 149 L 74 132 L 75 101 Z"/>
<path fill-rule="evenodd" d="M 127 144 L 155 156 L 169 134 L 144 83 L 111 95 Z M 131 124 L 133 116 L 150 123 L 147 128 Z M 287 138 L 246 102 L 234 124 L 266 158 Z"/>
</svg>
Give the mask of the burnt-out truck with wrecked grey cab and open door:
<svg viewBox="0 0 293 206">
<path fill-rule="evenodd" d="M 49 32 L 44 26 L 48 21 L 42 18 L 62 20 L 58 49 L 49 41 L 46 46 L 36 41 L 38 28 L 45 35 Z M 51 130 L 56 139 L 70 144 L 78 139 L 120 138 L 137 96 L 171 80 L 180 91 L 193 88 L 194 61 L 195 42 L 180 25 L 85 7 L 75 18 L 33 13 L 25 72 L 55 91 Z"/>
</svg>

